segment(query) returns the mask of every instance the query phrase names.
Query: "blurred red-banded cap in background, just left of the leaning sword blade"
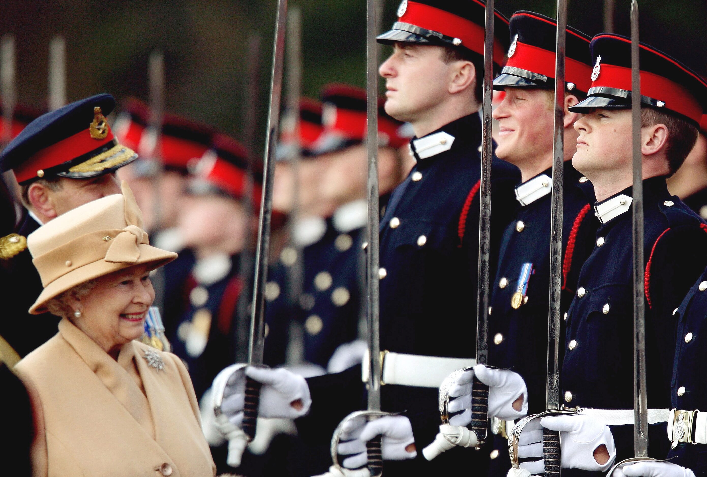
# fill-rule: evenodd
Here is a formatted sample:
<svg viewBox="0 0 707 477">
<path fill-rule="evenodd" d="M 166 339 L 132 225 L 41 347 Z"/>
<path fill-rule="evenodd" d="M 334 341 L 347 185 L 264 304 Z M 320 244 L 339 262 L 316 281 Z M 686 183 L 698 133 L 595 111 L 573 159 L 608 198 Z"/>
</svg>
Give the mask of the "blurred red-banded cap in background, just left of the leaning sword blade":
<svg viewBox="0 0 707 477">
<path fill-rule="evenodd" d="M 189 182 L 191 194 L 226 194 L 243 199 L 247 179 L 247 149 L 223 134 L 214 136 L 213 148 L 206 151 L 194 167 Z M 260 203 L 262 174 L 254 172 L 252 203 Z"/>
</svg>

